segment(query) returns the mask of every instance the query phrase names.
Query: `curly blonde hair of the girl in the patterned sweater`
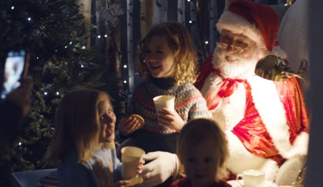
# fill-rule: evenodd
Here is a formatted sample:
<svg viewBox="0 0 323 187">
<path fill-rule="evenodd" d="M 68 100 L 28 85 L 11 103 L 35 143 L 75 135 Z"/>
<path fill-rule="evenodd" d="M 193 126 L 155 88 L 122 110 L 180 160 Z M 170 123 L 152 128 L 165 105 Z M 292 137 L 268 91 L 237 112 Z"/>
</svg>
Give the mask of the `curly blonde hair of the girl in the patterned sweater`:
<svg viewBox="0 0 323 187">
<path fill-rule="evenodd" d="M 161 23 L 155 25 L 142 38 L 138 46 L 137 67 L 140 77 L 150 79 L 151 75 L 144 63 L 145 51 L 153 36 L 165 36 L 168 45 L 175 56 L 175 85 L 181 85 L 186 82 L 194 83 L 196 81 L 197 56 L 186 27 L 180 23 Z"/>
</svg>

